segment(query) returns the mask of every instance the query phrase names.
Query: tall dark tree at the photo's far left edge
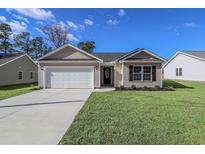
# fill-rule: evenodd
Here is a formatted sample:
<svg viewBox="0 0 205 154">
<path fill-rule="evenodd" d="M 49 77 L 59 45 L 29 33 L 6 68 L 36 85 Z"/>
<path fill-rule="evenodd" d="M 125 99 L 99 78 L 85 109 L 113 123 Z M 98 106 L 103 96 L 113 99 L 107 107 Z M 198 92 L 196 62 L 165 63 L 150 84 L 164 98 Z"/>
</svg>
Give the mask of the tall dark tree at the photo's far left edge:
<svg viewBox="0 0 205 154">
<path fill-rule="evenodd" d="M 0 23 L 0 49 L 4 51 L 5 56 L 12 46 L 9 40 L 11 34 L 12 30 L 10 25 L 6 23 Z"/>
</svg>

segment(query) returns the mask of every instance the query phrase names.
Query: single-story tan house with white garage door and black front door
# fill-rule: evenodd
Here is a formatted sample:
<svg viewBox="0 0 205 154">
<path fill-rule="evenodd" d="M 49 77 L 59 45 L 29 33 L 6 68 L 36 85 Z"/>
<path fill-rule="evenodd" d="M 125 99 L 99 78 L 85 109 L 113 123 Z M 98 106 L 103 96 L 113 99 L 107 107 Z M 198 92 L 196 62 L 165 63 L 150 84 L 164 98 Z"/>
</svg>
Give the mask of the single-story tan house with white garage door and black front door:
<svg viewBox="0 0 205 154">
<path fill-rule="evenodd" d="M 70 44 L 38 60 L 41 88 L 162 87 L 165 60 L 146 50 L 89 54 Z"/>
</svg>

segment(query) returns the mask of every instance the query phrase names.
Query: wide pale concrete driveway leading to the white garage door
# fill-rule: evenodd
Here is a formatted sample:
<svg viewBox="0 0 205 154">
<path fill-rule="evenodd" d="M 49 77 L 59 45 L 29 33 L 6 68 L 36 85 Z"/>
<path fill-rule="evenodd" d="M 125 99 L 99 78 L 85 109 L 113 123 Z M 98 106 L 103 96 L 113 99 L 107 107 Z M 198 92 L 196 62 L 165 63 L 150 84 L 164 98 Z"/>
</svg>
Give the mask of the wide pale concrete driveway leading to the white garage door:
<svg viewBox="0 0 205 154">
<path fill-rule="evenodd" d="M 58 144 L 91 92 L 45 89 L 0 101 L 0 144 Z"/>
</svg>

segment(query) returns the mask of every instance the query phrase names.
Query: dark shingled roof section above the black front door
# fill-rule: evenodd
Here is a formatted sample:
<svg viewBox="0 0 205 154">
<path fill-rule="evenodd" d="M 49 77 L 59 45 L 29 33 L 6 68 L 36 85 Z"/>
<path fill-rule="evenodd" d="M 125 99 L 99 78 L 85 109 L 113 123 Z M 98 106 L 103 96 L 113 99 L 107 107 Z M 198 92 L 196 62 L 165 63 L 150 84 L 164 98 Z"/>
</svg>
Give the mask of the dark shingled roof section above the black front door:
<svg viewBox="0 0 205 154">
<path fill-rule="evenodd" d="M 104 62 L 112 62 L 120 57 L 126 55 L 127 52 L 112 52 L 112 53 L 93 53 L 96 57 L 102 59 Z"/>
</svg>

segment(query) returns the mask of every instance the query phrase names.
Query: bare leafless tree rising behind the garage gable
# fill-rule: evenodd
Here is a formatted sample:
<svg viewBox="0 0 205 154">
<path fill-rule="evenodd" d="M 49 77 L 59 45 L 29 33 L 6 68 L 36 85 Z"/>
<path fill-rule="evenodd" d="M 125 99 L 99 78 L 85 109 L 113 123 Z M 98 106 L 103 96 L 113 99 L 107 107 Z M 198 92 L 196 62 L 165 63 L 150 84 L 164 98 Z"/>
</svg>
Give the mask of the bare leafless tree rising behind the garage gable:
<svg viewBox="0 0 205 154">
<path fill-rule="evenodd" d="M 68 28 L 62 24 L 51 24 L 40 28 L 47 35 L 55 48 L 61 47 L 69 42 Z"/>
</svg>

